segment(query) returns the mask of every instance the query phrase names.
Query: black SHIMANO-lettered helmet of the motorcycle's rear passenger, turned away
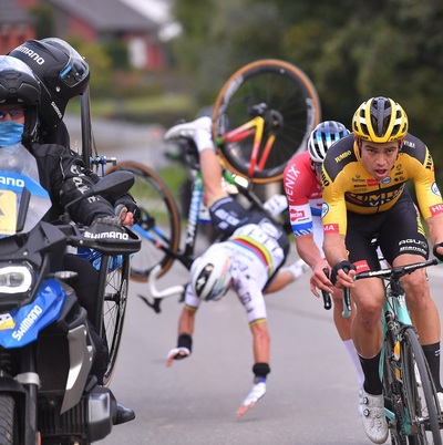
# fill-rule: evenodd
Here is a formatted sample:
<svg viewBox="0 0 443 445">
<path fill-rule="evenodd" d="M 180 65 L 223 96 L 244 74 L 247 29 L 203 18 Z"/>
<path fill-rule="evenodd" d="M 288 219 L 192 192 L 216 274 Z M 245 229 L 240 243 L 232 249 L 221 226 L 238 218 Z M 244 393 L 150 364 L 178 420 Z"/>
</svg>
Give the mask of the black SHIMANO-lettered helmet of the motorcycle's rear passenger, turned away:
<svg viewBox="0 0 443 445">
<path fill-rule="evenodd" d="M 29 65 L 41 81 L 40 117 L 49 127 L 56 127 L 68 102 L 86 90 L 90 68 L 84 58 L 56 38 L 28 40 L 8 55 Z"/>
</svg>

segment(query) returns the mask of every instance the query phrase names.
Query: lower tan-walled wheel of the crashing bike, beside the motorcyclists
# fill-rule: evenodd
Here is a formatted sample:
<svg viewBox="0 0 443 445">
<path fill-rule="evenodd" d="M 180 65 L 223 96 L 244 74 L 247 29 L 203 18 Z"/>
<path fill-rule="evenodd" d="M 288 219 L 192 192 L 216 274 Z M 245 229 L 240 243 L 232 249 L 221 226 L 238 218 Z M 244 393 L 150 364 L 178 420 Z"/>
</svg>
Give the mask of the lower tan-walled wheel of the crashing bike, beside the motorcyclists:
<svg viewBox="0 0 443 445">
<path fill-rule="evenodd" d="M 178 206 L 169 187 L 152 168 L 124 162 L 111 167 L 107 173 L 115 170 L 133 173 L 135 183 L 131 188 L 131 195 L 142 215 L 138 224 L 134 226 L 134 230 L 142 238 L 142 248 L 132 258 L 131 279 L 147 281 L 151 270 L 157 265 L 161 265 L 157 275 L 159 278 L 169 270 L 175 260 L 173 253 L 178 251 L 181 242 Z"/>
</svg>

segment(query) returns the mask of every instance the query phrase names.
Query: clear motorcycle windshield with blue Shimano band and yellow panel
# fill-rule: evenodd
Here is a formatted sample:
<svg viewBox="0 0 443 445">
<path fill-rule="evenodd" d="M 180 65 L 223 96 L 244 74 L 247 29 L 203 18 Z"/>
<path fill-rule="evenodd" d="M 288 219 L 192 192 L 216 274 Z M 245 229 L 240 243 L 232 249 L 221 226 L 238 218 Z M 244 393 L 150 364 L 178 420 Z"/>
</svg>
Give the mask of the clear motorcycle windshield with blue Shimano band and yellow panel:
<svg viewBox="0 0 443 445">
<path fill-rule="evenodd" d="M 51 208 L 35 158 L 21 144 L 0 148 L 0 239 L 27 234 Z"/>
</svg>

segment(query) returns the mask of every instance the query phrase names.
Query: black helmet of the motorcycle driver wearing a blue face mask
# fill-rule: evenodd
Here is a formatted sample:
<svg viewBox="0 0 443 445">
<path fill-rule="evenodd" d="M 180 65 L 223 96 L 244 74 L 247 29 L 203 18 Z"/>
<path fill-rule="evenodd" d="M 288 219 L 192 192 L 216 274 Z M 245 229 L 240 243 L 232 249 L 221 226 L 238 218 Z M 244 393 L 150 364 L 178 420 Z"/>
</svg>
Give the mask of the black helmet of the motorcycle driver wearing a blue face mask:
<svg viewBox="0 0 443 445">
<path fill-rule="evenodd" d="M 25 121 L 22 143 L 27 147 L 37 135 L 40 92 L 40 81 L 25 63 L 0 55 L 0 106 L 23 105 Z"/>
</svg>

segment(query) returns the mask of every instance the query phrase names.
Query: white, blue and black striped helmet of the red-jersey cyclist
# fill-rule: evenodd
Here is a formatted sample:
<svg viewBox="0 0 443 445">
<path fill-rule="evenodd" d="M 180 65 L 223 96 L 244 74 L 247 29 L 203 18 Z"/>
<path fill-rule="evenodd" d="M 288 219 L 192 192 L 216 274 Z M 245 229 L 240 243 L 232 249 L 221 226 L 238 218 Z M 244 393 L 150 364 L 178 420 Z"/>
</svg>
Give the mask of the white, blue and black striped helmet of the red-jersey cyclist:
<svg viewBox="0 0 443 445">
<path fill-rule="evenodd" d="M 313 128 L 308 141 L 308 151 L 311 159 L 315 163 L 322 164 L 326 157 L 326 152 L 328 152 L 330 146 L 348 134 L 348 128 L 340 122 L 320 122 L 320 124 Z"/>
</svg>

